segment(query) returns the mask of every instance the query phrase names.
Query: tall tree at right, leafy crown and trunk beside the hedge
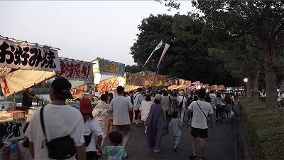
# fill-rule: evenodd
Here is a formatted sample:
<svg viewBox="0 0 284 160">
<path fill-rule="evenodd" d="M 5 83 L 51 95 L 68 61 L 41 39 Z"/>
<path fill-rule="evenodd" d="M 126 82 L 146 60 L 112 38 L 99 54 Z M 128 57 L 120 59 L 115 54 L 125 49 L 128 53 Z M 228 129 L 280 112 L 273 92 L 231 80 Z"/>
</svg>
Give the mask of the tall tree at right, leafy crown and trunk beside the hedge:
<svg viewBox="0 0 284 160">
<path fill-rule="evenodd" d="M 266 109 L 276 110 L 276 73 L 283 55 L 284 1 L 192 1 L 204 13 L 212 41 L 251 35 L 263 50 Z"/>
</svg>

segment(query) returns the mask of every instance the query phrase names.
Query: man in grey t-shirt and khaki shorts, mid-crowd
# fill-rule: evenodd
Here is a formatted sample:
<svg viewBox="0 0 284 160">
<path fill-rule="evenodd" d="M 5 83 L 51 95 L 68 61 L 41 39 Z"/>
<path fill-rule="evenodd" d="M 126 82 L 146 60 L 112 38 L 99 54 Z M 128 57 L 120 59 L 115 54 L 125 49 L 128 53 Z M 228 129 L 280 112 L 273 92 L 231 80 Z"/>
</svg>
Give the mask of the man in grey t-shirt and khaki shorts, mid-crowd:
<svg viewBox="0 0 284 160">
<path fill-rule="evenodd" d="M 114 126 L 113 130 L 118 132 L 124 132 L 124 143 L 122 146 L 126 146 L 130 137 L 130 119 L 129 112 L 132 112 L 133 105 L 129 98 L 124 97 L 124 87 L 116 87 L 117 97 L 111 100 L 109 110 L 113 112 Z"/>
</svg>

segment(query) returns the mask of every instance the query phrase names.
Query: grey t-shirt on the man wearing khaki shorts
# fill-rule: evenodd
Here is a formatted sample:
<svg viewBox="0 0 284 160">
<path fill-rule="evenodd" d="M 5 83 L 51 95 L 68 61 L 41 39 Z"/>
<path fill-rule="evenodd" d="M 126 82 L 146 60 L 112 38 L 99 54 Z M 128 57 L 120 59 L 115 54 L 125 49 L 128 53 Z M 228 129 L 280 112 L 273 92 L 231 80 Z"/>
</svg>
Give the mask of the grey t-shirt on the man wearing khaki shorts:
<svg viewBox="0 0 284 160">
<path fill-rule="evenodd" d="M 130 124 L 129 109 L 133 108 L 129 98 L 118 96 L 111 100 L 109 110 L 113 110 L 114 125 Z"/>
</svg>

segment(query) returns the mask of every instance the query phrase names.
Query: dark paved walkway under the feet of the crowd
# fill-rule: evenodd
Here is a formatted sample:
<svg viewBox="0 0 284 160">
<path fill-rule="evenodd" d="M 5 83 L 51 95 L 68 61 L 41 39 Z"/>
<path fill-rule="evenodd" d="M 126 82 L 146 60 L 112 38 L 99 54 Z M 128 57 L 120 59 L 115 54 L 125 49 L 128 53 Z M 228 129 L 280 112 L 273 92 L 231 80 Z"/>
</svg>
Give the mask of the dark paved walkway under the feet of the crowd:
<svg viewBox="0 0 284 160">
<path fill-rule="evenodd" d="M 187 112 L 187 110 L 185 111 Z M 178 152 L 173 151 L 173 136 L 166 134 L 162 138 L 162 147 L 160 153 L 155 154 L 153 149 L 148 149 L 146 144 L 146 134 L 144 134 L 144 127 L 138 128 L 131 124 L 131 138 L 126 146 L 126 152 L 129 155 L 128 159 L 190 159 L 192 154 L 192 147 L 190 143 L 190 124 L 187 124 L 187 116 L 185 117 L 185 124 L 183 124 L 184 132 L 180 138 L 178 145 Z M 240 123 L 240 119 L 231 119 L 231 123 L 222 123 L 215 121 L 215 129 L 208 129 L 209 137 L 205 140 L 205 153 L 207 159 L 241 159 L 237 153 L 238 147 L 235 140 L 236 123 Z M 211 124 L 209 122 L 209 126 Z M 105 141 L 104 146 L 107 145 Z M 197 158 L 200 156 L 199 139 L 197 138 Z M 106 159 L 102 156 L 100 159 Z"/>
</svg>

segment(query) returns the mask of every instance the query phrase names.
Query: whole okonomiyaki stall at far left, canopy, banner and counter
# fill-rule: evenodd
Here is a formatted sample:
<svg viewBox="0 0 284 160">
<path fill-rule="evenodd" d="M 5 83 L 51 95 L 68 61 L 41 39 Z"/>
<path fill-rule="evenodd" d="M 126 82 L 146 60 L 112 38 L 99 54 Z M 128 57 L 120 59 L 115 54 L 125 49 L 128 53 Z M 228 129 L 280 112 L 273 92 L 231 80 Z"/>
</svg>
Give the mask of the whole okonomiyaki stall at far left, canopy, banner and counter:
<svg viewBox="0 0 284 160">
<path fill-rule="evenodd" d="M 4 97 L 15 95 L 39 82 L 47 80 L 60 71 L 58 48 L 41 46 L 0 36 L 0 85 Z M 0 112 L 0 122 L 7 127 L 4 141 L 13 142 L 23 139 L 26 124 L 24 111 L 15 110 L 7 105 Z"/>
</svg>

